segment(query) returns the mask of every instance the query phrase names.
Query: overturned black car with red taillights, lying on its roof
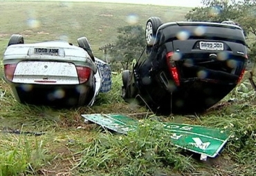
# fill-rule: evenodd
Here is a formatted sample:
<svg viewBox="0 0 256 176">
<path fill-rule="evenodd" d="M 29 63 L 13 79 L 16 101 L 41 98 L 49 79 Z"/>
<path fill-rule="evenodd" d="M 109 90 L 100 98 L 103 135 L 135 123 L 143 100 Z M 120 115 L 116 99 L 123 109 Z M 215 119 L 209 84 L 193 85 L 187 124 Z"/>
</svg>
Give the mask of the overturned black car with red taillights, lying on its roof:
<svg viewBox="0 0 256 176">
<path fill-rule="evenodd" d="M 244 75 L 248 58 L 239 26 L 150 17 L 145 37 L 133 69 L 122 72 L 122 98 L 156 114 L 202 112 Z"/>
</svg>

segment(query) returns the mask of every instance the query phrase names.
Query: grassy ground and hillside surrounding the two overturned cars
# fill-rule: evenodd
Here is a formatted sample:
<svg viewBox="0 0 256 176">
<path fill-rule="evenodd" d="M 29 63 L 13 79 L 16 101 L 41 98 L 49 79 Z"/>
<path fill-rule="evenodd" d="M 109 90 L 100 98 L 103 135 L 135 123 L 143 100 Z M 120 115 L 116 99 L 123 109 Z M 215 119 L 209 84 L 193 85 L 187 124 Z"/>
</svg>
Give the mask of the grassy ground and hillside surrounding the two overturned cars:
<svg viewBox="0 0 256 176">
<path fill-rule="evenodd" d="M 0 1 L 0 54 L 12 33 L 25 42 L 66 39 L 76 43 L 88 37 L 95 55 L 100 46 L 116 39 L 116 28 L 139 23 L 151 16 L 163 21 L 183 20 L 188 8 L 108 3 Z M 134 21 L 135 20 L 135 21 Z M 3 77 L 1 59 L 0 76 Z M 237 88 L 202 114 L 170 115 L 163 121 L 199 124 L 232 131 L 219 157 L 201 162 L 174 146 L 166 146 L 161 133 L 113 135 L 95 124 L 84 124 L 81 114 L 121 113 L 148 119 L 143 107 L 120 98 L 121 77 L 113 75 L 113 88 L 100 94 L 92 107 L 54 109 L 26 106 L 15 101 L 0 79 L 0 176 L 2 175 L 255 175 L 256 104 L 248 73 Z M 144 113 L 144 114 L 143 114 Z M 135 115 L 137 114 L 137 115 Z M 9 128 L 44 132 L 15 135 Z M 136 145 L 131 145 L 131 141 Z M 153 141 L 153 142 L 152 142 Z M 154 144 L 154 145 L 152 145 Z M 145 151 L 158 152 L 148 157 Z"/>
</svg>

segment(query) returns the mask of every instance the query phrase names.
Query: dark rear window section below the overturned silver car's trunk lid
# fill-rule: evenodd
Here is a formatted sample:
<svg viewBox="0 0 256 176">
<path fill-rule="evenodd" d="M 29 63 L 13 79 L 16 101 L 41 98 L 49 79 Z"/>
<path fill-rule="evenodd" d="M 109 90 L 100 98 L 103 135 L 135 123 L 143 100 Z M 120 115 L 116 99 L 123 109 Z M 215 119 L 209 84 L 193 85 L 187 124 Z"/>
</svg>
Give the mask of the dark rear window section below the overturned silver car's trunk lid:
<svg viewBox="0 0 256 176">
<path fill-rule="evenodd" d="M 93 90 L 93 86 L 87 82 L 75 85 L 41 85 L 8 81 L 8 84 L 20 103 L 47 106 L 82 106 L 91 101 L 89 94 Z"/>
</svg>

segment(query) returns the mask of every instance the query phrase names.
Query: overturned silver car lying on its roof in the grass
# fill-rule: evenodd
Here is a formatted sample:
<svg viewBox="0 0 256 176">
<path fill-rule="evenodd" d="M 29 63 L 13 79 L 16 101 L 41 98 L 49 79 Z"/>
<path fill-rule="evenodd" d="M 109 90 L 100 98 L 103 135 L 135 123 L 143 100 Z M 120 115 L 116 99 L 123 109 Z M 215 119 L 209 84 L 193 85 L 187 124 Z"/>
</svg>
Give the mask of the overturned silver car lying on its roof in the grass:
<svg viewBox="0 0 256 176">
<path fill-rule="evenodd" d="M 86 37 L 77 43 L 24 43 L 24 37 L 12 35 L 3 65 L 15 99 L 23 104 L 91 106 L 99 92 L 108 92 L 109 65 L 94 57 Z"/>
</svg>

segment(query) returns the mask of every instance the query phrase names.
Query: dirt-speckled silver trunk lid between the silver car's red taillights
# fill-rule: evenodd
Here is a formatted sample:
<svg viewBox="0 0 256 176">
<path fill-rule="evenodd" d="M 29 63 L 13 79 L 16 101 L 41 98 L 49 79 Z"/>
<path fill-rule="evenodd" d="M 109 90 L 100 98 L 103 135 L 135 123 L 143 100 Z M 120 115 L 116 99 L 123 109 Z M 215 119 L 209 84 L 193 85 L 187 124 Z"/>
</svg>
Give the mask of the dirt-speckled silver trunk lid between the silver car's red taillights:
<svg viewBox="0 0 256 176">
<path fill-rule="evenodd" d="M 54 61 L 21 61 L 12 79 L 21 84 L 79 84 L 73 63 Z"/>
</svg>

